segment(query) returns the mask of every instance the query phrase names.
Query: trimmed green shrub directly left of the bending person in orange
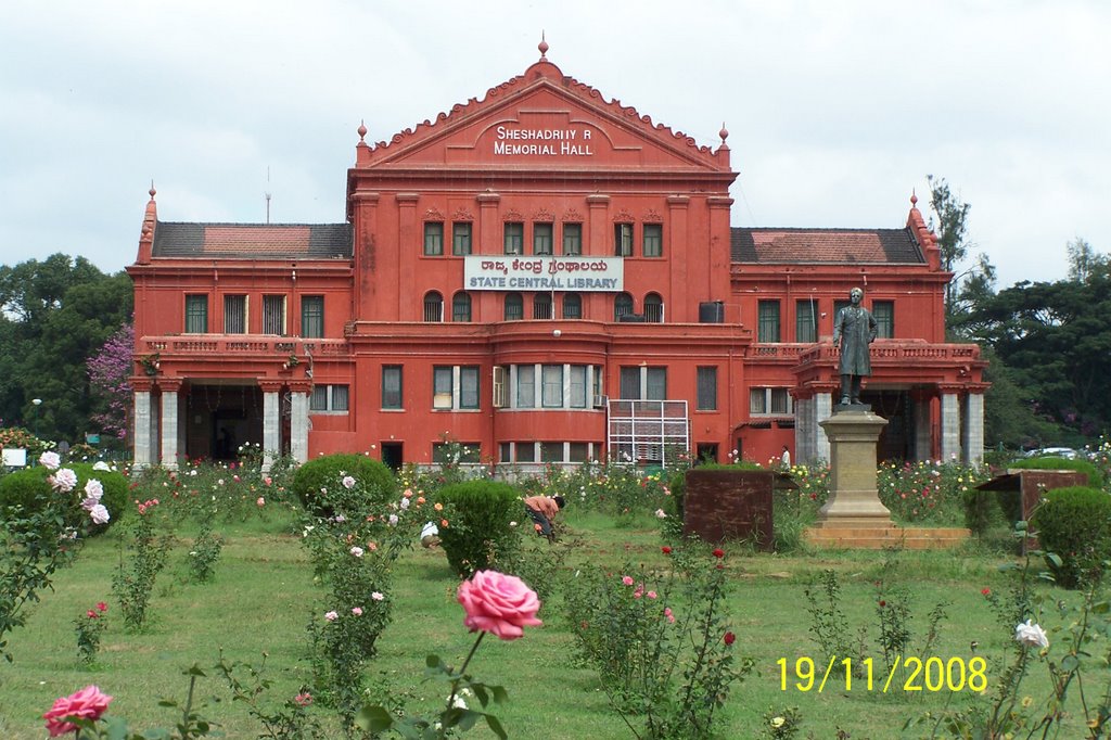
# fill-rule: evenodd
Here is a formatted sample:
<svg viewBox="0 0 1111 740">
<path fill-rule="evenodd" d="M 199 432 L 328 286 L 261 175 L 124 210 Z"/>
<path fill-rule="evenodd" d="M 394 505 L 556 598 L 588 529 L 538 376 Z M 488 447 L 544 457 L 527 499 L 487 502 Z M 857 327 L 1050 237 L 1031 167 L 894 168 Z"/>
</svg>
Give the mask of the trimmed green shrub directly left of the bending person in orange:
<svg viewBox="0 0 1111 740">
<path fill-rule="evenodd" d="M 440 546 L 461 577 L 494 568 L 516 549 L 520 528 L 531 531 L 519 491 L 509 483 L 468 481 L 446 486 L 437 494 L 448 526 L 440 526 Z M 521 522 L 518 530 L 510 522 Z"/>
</svg>

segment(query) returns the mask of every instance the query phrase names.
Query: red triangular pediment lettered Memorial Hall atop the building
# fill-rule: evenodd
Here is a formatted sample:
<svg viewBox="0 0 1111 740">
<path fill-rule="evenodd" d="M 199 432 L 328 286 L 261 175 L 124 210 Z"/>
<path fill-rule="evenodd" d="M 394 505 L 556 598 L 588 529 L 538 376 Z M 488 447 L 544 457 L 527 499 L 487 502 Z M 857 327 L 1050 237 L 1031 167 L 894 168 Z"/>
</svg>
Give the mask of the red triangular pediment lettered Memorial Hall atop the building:
<svg viewBox="0 0 1111 740">
<path fill-rule="evenodd" d="M 565 77 L 542 59 L 436 121 L 424 121 L 360 152 L 358 168 L 553 170 L 638 168 L 728 172 L 728 148 L 691 137 Z"/>
</svg>

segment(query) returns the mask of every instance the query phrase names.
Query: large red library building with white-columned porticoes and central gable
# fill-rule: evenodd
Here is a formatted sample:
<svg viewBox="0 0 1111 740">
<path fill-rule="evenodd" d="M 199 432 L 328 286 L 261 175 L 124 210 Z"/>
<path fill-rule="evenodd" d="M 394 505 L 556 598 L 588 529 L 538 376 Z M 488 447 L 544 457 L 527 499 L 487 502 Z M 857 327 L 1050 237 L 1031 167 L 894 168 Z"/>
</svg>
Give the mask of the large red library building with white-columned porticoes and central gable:
<svg viewBox="0 0 1111 740">
<path fill-rule="evenodd" d="M 884 458 L 982 453 L 983 362 L 944 340 L 934 236 L 731 227 L 717 148 L 523 74 L 366 141 L 347 222 L 159 221 L 136 263 L 136 461 L 372 451 L 529 468 L 680 452 L 827 458 L 833 316 L 880 323 Z"/>
</svg>

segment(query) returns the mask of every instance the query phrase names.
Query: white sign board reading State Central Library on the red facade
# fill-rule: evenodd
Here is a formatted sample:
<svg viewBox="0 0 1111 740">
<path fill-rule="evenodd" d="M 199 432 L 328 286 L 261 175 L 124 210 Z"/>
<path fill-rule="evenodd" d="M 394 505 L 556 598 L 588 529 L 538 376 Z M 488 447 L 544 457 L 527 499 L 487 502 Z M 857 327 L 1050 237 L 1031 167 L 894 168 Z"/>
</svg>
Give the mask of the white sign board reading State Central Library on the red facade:
<svg viewBox="0 0 1111 740">
<path fill-rule="evenodd" d="M 463 258 L 464 290 L 607 292 L 624 290 L 620 257 L 470 256 Z"/>
</svg>

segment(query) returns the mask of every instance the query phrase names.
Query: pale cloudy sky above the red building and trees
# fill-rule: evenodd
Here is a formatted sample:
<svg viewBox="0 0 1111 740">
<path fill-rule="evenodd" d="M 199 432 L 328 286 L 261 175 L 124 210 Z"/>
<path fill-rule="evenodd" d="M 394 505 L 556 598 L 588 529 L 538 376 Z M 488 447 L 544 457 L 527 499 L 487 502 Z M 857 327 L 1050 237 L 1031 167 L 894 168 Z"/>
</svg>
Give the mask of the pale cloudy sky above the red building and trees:
<svg viewBox="0 0 1111 740">
<path fill-rule="evenodd" d="M 1111 252 L 1102 0 L 4 0 L 0 263 L 134 261 L 163 221 L 344 220 L 388 140 L 548 59 L 717 148 L 733 226 L 901 228 L 943 178 L 999 288 Z"/>
</svg>

